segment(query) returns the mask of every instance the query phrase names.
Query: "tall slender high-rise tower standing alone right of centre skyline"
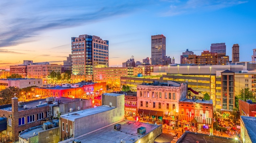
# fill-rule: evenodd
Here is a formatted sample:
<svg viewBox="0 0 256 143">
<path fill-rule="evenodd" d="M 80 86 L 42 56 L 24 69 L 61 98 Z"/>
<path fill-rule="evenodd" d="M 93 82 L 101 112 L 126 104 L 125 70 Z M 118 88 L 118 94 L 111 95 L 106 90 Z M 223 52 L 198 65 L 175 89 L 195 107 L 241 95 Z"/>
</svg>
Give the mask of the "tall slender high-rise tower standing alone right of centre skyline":
<svg viewBox="0 0 256 143">
<path fill-rule="evenodd" d="M 166 44 L 165 36 L 153 35 L 151 36 L 151 64 L 164 65 L 166 64 Z"/>
</svg>

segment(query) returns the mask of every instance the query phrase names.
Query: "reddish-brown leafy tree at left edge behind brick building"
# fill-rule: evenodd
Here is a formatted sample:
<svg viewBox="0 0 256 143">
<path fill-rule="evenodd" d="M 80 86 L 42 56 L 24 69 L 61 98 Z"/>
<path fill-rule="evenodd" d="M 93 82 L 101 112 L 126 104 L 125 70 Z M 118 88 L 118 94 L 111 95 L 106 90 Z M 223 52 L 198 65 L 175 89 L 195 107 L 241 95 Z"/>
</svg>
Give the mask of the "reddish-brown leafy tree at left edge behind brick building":
<svg viewBox="0 0 256 143">
<path fill-rule="evenodd" d="M 20 94 L 20 88 L 18 87 L 8 87 L 0 91 L 0 105 L 5 105 L 5 104 L 11 104 L 11 98 L 14 97 L 14 94 L 16 93 L 16 97 L 19 98 L 19 101 L 22 101 L 20 99 L 21 94 Z"/>
</svg>

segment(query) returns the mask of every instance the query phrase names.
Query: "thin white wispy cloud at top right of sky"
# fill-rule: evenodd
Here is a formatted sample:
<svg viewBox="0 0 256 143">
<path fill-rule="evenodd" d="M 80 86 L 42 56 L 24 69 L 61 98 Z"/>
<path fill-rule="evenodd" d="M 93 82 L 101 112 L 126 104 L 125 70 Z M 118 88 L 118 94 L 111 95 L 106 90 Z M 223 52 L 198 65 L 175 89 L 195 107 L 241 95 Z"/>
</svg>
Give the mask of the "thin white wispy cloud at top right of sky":
<svg viewBox="0 0 256 143">
<path fill-rule="evenodd" d="M 168 1 L 169 10 L 163 12 L 162 16 L 176 16 L 193 12 L 213 11 L 222 8 L 232 7 L 247 3 L 246 0 L 187 0 L 178 3 L 178 1 Z"/>
</svg>

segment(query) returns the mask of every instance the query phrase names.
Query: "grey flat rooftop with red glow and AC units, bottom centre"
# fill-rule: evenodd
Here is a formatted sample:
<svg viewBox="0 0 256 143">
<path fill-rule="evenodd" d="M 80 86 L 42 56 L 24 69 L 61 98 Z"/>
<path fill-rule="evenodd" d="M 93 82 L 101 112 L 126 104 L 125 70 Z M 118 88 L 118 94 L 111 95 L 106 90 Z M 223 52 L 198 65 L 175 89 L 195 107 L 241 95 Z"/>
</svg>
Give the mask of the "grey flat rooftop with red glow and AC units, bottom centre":
<svg viewBox="0 0 256 143">
<path fill-rule="evenodd" d="M 145 127 L 145 134 L 147 134 L 160 126 L 156 124 L 132 122 L 128 120 L 123 120 L 118 124 L 121 124 L 120 131 L 115 131 L 114 125 L 111 125 L 77 139 L 81 142 L 86 143 L 120 143 L 121 139 L 123 139 L 126 143 L 133 143 L 136 140 L 139 140 L 139 138 L 141 138 L 142 136 L 144 136 L 137 134 L 137 129 L 139 127 Z M 130 140 L 131 138 L 133 138 L 134 140 Z"/>
</svg>

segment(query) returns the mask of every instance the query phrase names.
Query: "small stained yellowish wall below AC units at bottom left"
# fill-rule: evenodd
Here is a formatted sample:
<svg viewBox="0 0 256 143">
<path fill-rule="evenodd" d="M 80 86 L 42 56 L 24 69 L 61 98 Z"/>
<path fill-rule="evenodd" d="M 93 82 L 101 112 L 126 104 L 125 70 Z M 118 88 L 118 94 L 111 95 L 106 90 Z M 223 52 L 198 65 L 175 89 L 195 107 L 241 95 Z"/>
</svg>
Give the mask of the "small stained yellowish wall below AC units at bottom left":
<svg viewBox="0 0 256 143">
<path fill-rule="evenodd" d="M 56 127 L 38 133 L 38 143 L 58 143 L 59 142 L 59 128 Z M 30 142 L 29 142 L 30 143 Z"/>
</svg>

